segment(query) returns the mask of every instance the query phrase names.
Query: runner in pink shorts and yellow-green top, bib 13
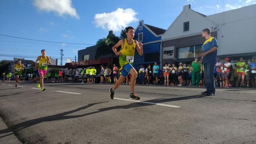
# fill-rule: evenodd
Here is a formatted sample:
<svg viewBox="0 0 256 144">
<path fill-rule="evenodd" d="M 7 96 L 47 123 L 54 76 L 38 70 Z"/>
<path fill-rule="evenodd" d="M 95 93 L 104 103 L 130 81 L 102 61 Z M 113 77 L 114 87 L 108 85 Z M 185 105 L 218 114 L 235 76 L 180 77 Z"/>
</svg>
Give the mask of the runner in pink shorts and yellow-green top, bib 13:
<svg viewBox="0 0 256 144">
<path fill-rule="evenodd" d="M 44 76 L 46 75 L 46 72 L 47 72 L 47 65 L 48 63 L 51 65 L 52 62 L 50 60 L 49 57 L 47 57 L 45 55 L 45 50 L 42 50 L 41 51 L 41 54 L 42 56 L 38 56 L 37 59 L 36 59 L 36 67 L 37 67 L 37 61 L 39 60 L 39 64 L 38 64 L 38 72 L 39 72 L 39 75 L 40 75 L 40 84 L 41 84 L 41 87 L 42 87 L 42 91 L 45 90 L 44 88 Z"/>
</svg>

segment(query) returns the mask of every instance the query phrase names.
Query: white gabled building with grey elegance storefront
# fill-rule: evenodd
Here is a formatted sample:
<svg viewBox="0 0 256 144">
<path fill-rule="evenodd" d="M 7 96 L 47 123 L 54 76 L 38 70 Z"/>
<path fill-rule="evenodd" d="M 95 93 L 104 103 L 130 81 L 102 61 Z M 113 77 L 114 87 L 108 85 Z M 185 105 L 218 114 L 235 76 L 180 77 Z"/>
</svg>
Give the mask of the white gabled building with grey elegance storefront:
<svg viewBox="0 0 256 144">
<path fill-rule="evenodd" d="M 162 36 L 161 63 L 189 62 L 200 56 L 205 41 L 201 34 L 205 28 L 210 28 L 211 36 L 217 38 L 220 58 L 229 57 L 231 61 L 237 61 L 238 57 L 243 57 L 250 60 L 256 55 L 255 25 L 256 4 L 210 16 L 185 5 Z"/>
</svg>

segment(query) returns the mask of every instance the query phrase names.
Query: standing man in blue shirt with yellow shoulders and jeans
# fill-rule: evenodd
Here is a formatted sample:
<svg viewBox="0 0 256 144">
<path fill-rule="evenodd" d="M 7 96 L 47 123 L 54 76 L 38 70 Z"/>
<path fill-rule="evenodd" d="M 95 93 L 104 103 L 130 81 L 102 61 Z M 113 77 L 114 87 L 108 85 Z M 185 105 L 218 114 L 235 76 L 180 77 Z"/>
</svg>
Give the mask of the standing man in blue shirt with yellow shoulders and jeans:
<svg viewBox="0 0 256 144">
<path fill-rule="evenodd" d="M 202 32 L 202 37 L 205 38 L 203 53 L 201 61 L 204 62 L 204 76 L 206 91 L 202 94 L 207 94 L 208 96 L 216 95 L 214 87 L 214 67 L 217 63 L 217 49 L 218 42 L 217 39 L 211 37 L 211 31 L 209 28 L 205 28 Z"/>
</svg>

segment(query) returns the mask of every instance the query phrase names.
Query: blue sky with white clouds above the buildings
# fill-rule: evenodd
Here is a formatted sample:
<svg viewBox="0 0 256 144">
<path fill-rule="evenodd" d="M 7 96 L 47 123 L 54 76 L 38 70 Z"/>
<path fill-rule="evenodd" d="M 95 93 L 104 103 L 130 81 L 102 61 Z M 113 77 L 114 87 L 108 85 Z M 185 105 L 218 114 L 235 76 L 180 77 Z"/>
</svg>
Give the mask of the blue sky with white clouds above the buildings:
<svg viewBox="0 0 256 144">
<path fill-rule="evenodd" d="M 0 36 L 0 60 L 13 56 L 34 60 L 46 49 L 46 55 L 60 59 L 75 59 L 77 51 L 95 44 L 99 38 L 114 30 L 119 36 L 125 26 L 137 27 L 139 20 L 167 29 L 180 14 L 184 5 L 205 15 L 215 14 L 256 4 L 256 0 L 1 0 L 0 34 L 7 36 L 63 42 L 42 43 Z M 125 17 L 120 17 L 125 15 Z M 1 56 L 8 54 L 9 56 Z M 59 61 L 60 62 L 60 61 Z"/>
</svg>

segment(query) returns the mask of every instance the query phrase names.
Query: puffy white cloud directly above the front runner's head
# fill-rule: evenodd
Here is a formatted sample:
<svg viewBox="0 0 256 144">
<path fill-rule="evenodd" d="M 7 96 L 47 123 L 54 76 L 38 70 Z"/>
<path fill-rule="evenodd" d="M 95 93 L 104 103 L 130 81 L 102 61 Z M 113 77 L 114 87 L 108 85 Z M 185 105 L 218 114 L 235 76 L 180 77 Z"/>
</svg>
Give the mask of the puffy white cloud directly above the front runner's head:
<svg viewBox="0 0 256 144">
<path fill-rule="evenodd" d="M 98 13 L 94 16 L 94 22 L 96 27 L 102 29 L 108 29 L 113 31 L 120 31 L 127 27 L 130 23 L 138 21 L 135 17 L 137 12 L 131 8 L 122 9 L 118 8 L 116 11 L 110 13 Z"/>
</svg>

